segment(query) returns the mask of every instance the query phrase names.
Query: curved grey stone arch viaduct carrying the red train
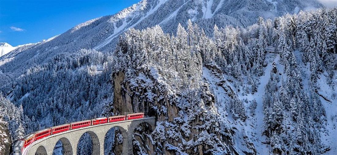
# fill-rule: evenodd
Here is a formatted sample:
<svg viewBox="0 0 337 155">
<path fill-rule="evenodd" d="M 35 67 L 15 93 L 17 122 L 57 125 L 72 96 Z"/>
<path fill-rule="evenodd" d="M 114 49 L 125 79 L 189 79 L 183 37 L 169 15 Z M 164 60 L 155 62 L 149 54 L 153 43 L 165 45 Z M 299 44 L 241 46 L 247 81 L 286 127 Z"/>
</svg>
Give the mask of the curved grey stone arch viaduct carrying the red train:
<svg viewBox="0 0 337 155">
<path fill-rule="evenodd" d="M 149 124 L 152 130 L 155 129 L 154 117 L 88 126 L 53 134 L 51 136 L 37 140 L 23 150 L 23 155 L 52 155 L 54 147 L 59 140 L 63 144 L 64 155 L 75 155 L 77 153 L 77 145 L 79 143 L 79 140 L 81 136 L 86 132 L 89 133 L 92 139 L 92 154 L 104 155 L 105 135 L 113 127 L 117 127 L 122 131 L 122 154 L 130 155 L 132 154 L 133 131 L 137 126 L 142 123 Z"/>
</svg>

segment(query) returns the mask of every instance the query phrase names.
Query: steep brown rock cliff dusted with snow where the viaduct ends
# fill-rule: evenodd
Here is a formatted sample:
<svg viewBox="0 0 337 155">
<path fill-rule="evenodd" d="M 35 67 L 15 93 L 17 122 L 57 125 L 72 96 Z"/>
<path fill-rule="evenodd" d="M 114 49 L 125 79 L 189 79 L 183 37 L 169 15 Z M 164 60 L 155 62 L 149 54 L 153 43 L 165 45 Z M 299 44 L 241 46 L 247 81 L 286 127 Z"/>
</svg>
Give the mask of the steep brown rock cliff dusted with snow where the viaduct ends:
<svg viewBox="0 0 337 155">
<path fill-rule="evenodd" d="M 209 86 L 205 83 L 196 90 L 180 91 L 160 76 L 154 68 L 113 75 L 113 112 L 145 112 L 157 119 L 154 132 L 148 124 L 134 132 L 134 154 L 238 154 L 232 140 L 234 130 L 219 118 Z"/>
</svg>

